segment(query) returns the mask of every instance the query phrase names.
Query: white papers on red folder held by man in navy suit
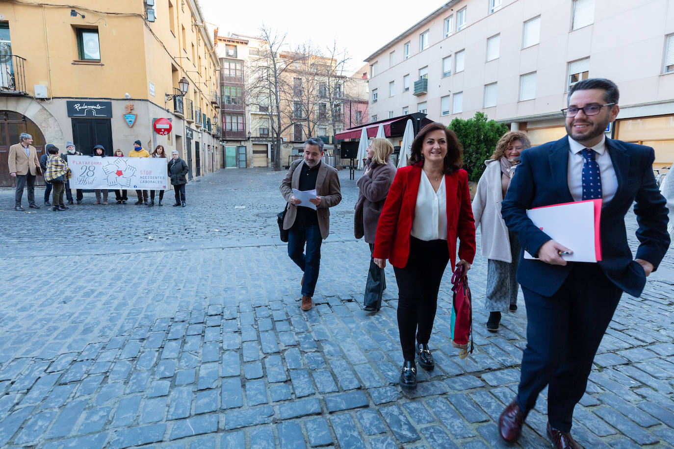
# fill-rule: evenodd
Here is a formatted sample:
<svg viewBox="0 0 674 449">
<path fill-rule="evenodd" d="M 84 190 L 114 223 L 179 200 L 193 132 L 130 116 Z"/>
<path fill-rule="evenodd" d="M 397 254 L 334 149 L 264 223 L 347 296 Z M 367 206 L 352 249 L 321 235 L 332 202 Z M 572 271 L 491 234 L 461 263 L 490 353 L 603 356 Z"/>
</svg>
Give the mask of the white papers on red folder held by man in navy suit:
<svg viewBox="0 0 674 449">
<path fill-rule="evenodd" d="M 591 202 L 569 203 L 529 209 L 526 215 L 555 242 L 574 254 L 564 254 L 565 261 L 596 262 L 594 250 L 594 205 Z M 524 251 L 524 258 L 535 258 Z"/>
</svg>

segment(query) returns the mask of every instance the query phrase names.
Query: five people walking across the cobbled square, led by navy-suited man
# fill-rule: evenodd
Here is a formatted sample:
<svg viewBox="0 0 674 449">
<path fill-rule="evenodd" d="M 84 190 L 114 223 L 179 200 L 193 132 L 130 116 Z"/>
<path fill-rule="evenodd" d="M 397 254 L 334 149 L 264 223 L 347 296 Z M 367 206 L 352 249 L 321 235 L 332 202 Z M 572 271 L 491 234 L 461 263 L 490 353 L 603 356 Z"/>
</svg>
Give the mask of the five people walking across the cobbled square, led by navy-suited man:
<svg viewBox="0 0 674 449">
<path fill-rule="evenodd" d="M 487 263 L 487 282 L 472 287 L 485 290 L 486 329 L 498 332 L 501 314 L 518 310 L 520 285 L 527 315 L 520 384 L 499 417 L 499 434 L 515 442 L 547 386 L 547 436 L 555 448 L 580 447 L 571 435 L 572 417 L 601 339 L 623 291 L 641 295 L 672 238 L 667 209 L 671 219 L 674 188 L 663 189 L 666 201 L 652 172 L 654 150 L 605 137 L 619 112 L 618 100 L 617 85 L 608 79 L 573 85 L 561 110 L 567 135 L 531 147 L 526 133 L 505 133 L 485 162 L 472 201 L 462 145 L 445 125 L 419 130 L 407 165 L 397 170 L 388 139 L 369 143 L 357 181 L 354 223 L 355 237 L 364 237 L 370 249 L 363 310 L 376 314 L 381 308 L 388 259 L 398 284 L 402 390 L 417 387 L 417 359 L 425 370 L 435 368 L 429 343 L 439 285 L 447 265 L 467 281 L 481 226 L 482 259 L 476 263 Z M 329 208 L 342 199 L 338 172 L 321 162 L 323 155 L 323 141 L 308 139 L 303 159 L 290 164 L 280 186 L 288 203 L 282 228 L 288 232 L 288 256 L 303 272 L 305 311 L 313 306 L 321 242 L 330 232 Z M 293 191 L 309 191 L 309 203 Z M 555 242 L 527 215 L 535 207 L 595 199 L 601 200 L 603 255 L 594 263 L 566 261 L 573 248 Z M 624 220 L 633 203 L 639 223 L 636 258 Z M 534 258 L 524 258 L 525 252 Z"/>
</svg>

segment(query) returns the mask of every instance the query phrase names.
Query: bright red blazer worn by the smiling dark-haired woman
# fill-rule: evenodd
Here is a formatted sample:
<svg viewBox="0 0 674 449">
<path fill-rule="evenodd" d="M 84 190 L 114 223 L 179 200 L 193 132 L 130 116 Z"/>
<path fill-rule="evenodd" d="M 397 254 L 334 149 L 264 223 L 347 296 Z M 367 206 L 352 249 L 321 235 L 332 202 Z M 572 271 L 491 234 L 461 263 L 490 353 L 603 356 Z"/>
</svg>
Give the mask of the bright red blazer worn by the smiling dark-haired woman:
<svg viewBox="0 0 674 449">
<path fill-rule="evenodd" d="M 379 215 L 373 256 L 388 258 L 391 265 L 404 268 L 410 256 L 410 232 L 415 219 L 421 166 L 399 168 Z M 470 207 L 468 173 L 458 170 L 445 176 L 447 195 L 447 246 L 452 271 L 456 263 L 456 239 L 460 240 L 459 258 L 472 264 L 475 256 L 475 221 Z"/>
</svg>

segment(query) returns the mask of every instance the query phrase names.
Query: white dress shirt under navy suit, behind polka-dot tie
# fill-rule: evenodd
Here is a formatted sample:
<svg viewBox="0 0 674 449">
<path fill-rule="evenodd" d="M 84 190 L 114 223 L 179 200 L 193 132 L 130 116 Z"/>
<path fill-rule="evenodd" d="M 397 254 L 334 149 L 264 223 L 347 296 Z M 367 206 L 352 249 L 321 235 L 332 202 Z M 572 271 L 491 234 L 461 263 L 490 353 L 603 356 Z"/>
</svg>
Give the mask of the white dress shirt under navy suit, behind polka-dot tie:
<svg viewBox="0 0 674 449">
<path fill-rule="evenodd" d="M 585 158 L 580 153 L 583 149 L 594 149 L 594 160 L 599 164 L 599 174 L 601 175 L 601 196 L 603 203 L 608 203 L 613 199 L 615 191 L 618 189 L 618 178 L 615 177 L 615 170 L 613 170 L 613 162 L 609 156 L 609 150 L 606 147 L 606 136 L 603 136 L 601 142 L 594 145 L 594 147 L 584 147 L 582 144 L 576 142 L 569 137 L 569 164 L 567 180 L 569 184 L 569 191 L 574 201 L 581 201 L 583 199 L 583 164 Z"/>
</svg>

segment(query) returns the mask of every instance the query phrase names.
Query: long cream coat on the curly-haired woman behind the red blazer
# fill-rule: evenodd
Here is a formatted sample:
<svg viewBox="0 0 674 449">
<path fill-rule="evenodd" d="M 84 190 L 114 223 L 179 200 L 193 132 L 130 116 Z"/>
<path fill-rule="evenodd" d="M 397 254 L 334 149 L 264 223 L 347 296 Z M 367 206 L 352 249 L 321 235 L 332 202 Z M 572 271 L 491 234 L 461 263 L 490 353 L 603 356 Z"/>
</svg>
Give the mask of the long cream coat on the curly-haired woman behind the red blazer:
<svg viewBox="0 0 674 449">
<path fill-rule="evenodd" d="M 501 217 L 501 163 L 490 159 L 485 164 L 487 168 L 477 183 L 477 191 L 472 200 L 475 228 L 481 226 L 482 255 L 493 261 L 512 263 L 508 226 L 505 226 Z"/>
</svg>

